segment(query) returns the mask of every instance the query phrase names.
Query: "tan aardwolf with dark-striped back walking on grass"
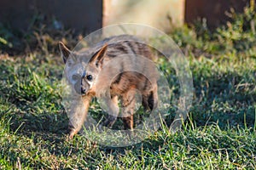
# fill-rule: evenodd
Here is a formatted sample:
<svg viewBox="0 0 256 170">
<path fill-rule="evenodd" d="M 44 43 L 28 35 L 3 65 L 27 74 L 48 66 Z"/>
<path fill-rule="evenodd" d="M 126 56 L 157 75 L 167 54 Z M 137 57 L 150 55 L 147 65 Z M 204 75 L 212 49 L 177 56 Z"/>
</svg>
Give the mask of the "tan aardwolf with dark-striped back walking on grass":
<svg viewBox="0 0 256 170">
<path fill-rule="evenodd" d="M 77 87 L 76 91 L 79 92 L 78 84 L 81 84 L 81 90 L 84 92 L 82 94 L 83 113 L 78 109 L 71 111 L 70 139 L 82 127 L 91 97 L 100 97 L 107 105 L 109 116 L 103 124 L 108 127 L 113 126 L 119 115 L 118 99 L 121 101 L 121 117 L 125 129 L 133 129 L 136 93 L 142 95 L 142 105 L 145 110 L 153 111 L 156 108 L 158 76 L 154 63 L 151 61 L 153 55 L 148 46 L 137 37 L 126 35 L 110 37 L 81 54 L 72 53 L 62 42 L 60 42 L 60 48 L 65 63 L 71 59 L 70 65 L 73 67 L 74 65 L 84 66 L 84 71 L 78 73 L 80 79 L 76 83 L 70 80 L 73 75 L 69 72 L 73 71 L 75 74 L 73 68 L 68 67 L 66 71 L 67 79 Z M 89 81 L 88 76 L 93 77 L 93 80 Z"/>
</svg>

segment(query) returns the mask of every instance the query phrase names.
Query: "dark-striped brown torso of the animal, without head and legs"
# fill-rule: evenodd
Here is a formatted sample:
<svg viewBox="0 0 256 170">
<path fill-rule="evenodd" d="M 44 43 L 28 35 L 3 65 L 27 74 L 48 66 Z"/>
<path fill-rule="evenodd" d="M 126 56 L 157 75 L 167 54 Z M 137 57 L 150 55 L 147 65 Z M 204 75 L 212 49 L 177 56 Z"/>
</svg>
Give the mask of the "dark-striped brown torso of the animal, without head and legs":
<svg viewBox="0 0 256 170">
<path fill-rule="evenodd" d="M 158 75 L 148 45 L 128 35 L 110 37 L 98 45 L 104 44 L 108 44 L 108 49 L 98 90 L 110 87 L 112 95 L 122 96 L 137 89 L 145 96 L 151 95 L 157 88 Z"/>
</svg>

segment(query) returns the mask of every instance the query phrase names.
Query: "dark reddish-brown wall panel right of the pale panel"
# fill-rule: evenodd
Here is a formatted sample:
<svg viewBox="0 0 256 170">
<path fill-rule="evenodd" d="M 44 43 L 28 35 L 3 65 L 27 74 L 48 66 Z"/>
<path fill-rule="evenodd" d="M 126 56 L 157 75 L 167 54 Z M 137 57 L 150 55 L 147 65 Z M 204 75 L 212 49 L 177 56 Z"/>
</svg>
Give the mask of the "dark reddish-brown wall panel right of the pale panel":
<svg viewBox="0 0 256 170">
<path fill-rule="evenodd" d="M 186 0 L 185 22 L 193 23 L 197 19 L 206 18 L 207 26 L 217 27 L 229 20 L 225 14 L 234 8 L 241 13 L 250 0 Z"/>
</svg>

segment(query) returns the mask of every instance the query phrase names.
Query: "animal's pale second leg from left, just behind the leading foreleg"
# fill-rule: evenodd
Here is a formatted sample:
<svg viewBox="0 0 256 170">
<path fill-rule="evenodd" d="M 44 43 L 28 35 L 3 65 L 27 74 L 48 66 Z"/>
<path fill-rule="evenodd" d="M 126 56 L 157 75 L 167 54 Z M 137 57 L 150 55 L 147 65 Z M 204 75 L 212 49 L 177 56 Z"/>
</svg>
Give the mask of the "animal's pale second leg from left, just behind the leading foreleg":
<svg viewBox="0 0 256 170">
<path fill-rule="evenodd" d="M 112 99 L 105 99 L 105 102 L 108 107 L 108 118 L 103 122 L 103 126 L 112 127 L 119 115 L 118 96 L 113 96 Z"/>
</svg>

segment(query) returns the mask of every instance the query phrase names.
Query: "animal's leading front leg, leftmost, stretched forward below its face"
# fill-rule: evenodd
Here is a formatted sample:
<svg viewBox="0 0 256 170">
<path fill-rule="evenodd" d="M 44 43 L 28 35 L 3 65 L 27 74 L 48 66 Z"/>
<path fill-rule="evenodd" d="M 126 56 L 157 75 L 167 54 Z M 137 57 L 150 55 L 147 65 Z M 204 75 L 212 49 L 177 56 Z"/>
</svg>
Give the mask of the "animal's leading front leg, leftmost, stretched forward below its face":
<svg viewBox="0 0 256 170">
<path fill-rule="evenodd" d="M 70 108 L 69 115 L 69 139 L 73 139 L 73 136 L 79 133 L 81 127 L 84 124 L 90 106 L 90 96 L 85 96 L 82 99 L 73 101 Z"/>
</svg>

